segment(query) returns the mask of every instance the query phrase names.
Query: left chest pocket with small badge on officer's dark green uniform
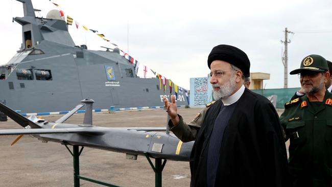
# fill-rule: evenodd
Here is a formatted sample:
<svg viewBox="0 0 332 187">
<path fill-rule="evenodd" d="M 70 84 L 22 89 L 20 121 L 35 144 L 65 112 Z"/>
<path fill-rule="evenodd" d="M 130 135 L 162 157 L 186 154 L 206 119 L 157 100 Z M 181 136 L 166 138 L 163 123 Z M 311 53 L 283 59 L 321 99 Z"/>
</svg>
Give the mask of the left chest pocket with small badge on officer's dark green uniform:
<svg viewBox="0 0 332 187">
<path fill-rule="evenodd" d="M 332 127 L 332 126 L 331 126 Z M 306 141 L 305 122 L 289 122 L 286 124 L 286 133 L 291 144 L 297 145 Z"/>
</svg>

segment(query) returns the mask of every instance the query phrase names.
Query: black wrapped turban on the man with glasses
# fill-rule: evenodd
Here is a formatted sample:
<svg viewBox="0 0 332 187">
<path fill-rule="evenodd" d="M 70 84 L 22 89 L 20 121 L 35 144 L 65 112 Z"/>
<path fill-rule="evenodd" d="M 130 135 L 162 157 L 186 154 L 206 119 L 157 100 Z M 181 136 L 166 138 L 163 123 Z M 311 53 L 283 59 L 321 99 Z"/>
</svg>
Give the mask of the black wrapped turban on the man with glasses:
<svg viewBox="0 0 332 187">
<path fill-rule="evenodd" d="M 217 45 L 212 49 L 207 58 L 207 65 L 211 69 L 211 63 L 214 60 L 222 60 L 228 62 L 236 67 L 239 67 L 245 77 L 250 77 L 250 61 L 248 56 L 240 50 L 231 45 Z"/>
</svg>

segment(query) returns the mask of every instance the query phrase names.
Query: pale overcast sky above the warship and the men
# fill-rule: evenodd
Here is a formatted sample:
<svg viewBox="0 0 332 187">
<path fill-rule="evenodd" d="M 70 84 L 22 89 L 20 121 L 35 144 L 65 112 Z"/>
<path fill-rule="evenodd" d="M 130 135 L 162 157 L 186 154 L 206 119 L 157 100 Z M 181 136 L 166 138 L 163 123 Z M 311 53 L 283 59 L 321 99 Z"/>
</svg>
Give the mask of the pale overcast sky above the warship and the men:
<svg viewBox="0 0 332 187">
<path fill-rule="evenodd" d="M 55 7 L 51 2 L 60 5 Z M 300 66 L 310 54 L 332 60 L 332 1 L 79 1 L 35 0 L 37 16 L 46 17 L 61 9 L 89 29 L 98 30 L 129 54 L 189 89 L 189 78 L 209 73 L 207 56 L 218 44 L 243 50 L 251 62 L 250 72 L 270 74 L 265 88 L 283 87 L 281 62 L 284 29 L 290 34 L 288 72 Z M 1 61 L 7 63 L 22 42 L 21 26 L 12 17 L 23 16 L 22 4 L 2 1 L 0 24 Z M 69 26 L 77 45 L 89 50 L 113 48 L 92 32 Z M 299 87 L 296 75 L 289 75 L 289 87 Z"/>
</svg>

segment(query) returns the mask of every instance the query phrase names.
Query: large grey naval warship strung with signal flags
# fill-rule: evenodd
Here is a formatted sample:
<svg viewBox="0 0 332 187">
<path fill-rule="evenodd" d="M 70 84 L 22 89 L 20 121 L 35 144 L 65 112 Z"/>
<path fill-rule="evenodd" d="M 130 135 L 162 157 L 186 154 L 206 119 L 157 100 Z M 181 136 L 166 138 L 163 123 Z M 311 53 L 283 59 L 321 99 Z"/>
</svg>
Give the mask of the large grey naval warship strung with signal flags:
<svg viewBox="0 0 332 187">
<path fill-rule="evenodd" d="M 77 46 L 59 10 L 36 17 L 31 0 L 23 4 L 21 48 L 0 66 L 0 102 L 21 112 L 65 111 L 80 100 L 95 101 L 93 108 L 162 106 L 158 78 L 140 78 L 135 67 L 115 48 L 106 51 Z M 163 86 L 162 86 L 163 87 Z M 173 89 L 174 94 L 174 89 Z M 178 94 L 177 104 L 187 105 Z"/>
</svg>

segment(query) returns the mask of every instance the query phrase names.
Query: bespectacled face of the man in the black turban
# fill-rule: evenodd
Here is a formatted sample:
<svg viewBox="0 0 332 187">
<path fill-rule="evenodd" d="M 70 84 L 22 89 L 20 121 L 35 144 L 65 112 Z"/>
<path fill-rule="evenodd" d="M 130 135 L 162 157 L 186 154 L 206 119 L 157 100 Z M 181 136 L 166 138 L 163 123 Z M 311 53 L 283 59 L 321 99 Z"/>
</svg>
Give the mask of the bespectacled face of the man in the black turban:
<svg viewBox="0 0 332 187">
<path fill-rule="evenodd" d="M 210 83 L 216 100 L 231 96 L 236 90 L 235 74 L 230 63 L 215 60 L 211 63 Z"/>
</svg>

